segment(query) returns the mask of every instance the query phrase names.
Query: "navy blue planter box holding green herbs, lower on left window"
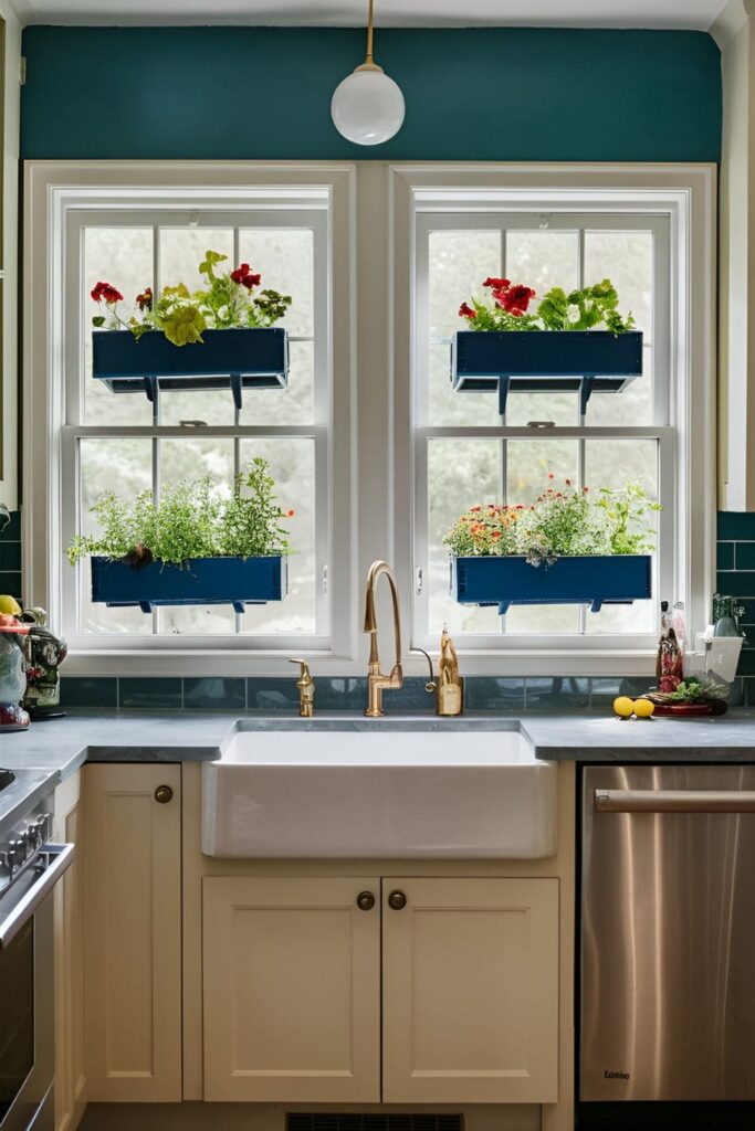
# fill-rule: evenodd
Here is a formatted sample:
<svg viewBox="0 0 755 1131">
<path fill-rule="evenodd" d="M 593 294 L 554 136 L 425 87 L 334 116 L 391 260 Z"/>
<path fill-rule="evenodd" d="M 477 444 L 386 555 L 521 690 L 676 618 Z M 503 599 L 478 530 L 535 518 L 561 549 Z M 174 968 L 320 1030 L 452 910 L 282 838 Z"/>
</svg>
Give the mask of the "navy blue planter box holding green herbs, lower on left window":
<svg viewBox="0 0 755 1131">
<path fill-rule="evenodd" d="M 110 607 L 138 605 L 246 605 L 282 601 L 288 589 L 288 559 L 192 558 L 182 566 L 153 561 L 143 569 L 112 558 L 92 558 L 92 599 Z"/>
</svg>

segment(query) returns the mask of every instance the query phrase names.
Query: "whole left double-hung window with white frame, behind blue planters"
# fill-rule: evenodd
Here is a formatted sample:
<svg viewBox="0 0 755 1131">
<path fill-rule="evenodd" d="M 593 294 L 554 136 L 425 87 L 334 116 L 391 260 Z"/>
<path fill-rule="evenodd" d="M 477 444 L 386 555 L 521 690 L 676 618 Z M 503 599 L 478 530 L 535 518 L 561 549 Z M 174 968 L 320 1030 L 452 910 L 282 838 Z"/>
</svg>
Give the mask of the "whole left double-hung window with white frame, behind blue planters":
<svg viewBox="0 0 755 1131">
<path fill-rule="evenodd" d="M 32 182 L 44 175 L 35 166 Z M 27 459 L 37 485 L 46 463 L 52 506 L 42 513 L 42 493 L 35 493 L 31 520 L 43 537 L 28 539 L 28 590 L 50 606 L 55 627 L 79 654 L 337 654 L 348 647 L 351 632 L 344 607 L 334 610 L 332 603 L 333 543 L 340 534 L 343 538 L 350 490 L 346 474 L 334 499 L 334 463 L 348 472 L 350 460 L 348 429 L 334 440 L 337 414 L 350 420 L 351 374 L 343 364 L 337 397 L 334 390 L 338 349 L 342 357 L 349 354 L 349 327 L 338 340 L 332 326 L 334 295 L 343 303 L 337 288 L 349 291 L 348 277 L 335 283 L 333 270 L 337 231 L 349 224 L 346 201 L 338 205 L 336 199 L 338 192 L 343 196 L 343 176 L 332 183 L 327 176 L 325 183 L 304 176 L 299 183 L 289 173 L 281 185 L 268 174 L 267 187 L 264 175 L 240 185 L 233 183 L 241 179 L 238 169 L 215 167 L 214 189 L 200 188 L 195 171 L 192 185 L 177 175 L 160 190 L 138 183 L 134 166 L 126 173 L 113 169 L 112 187 L 85 183 L 83 167 L 79 175 L 79 189 L 61 185 L 46 196 L 31 193 L 33 205 L 48 211 L 46 242 L 36 239 L 37 231 L 29 244 L 48 260 L 54 345 L 46 385 L 41 374 L 32 379 L 42 411 L 46 394 L 51 428 L 44 448 L 38 426 L 29 430 Z M 129 178 L 137 182 L 131 188 Z M 182 283 L 189 291 L 204 285 L 199 265 L 209 250 L 226 257 L 220 270 L 249 264 L 261 276 L 261 287 L 291 296 L 276 323 L 289 337 L 288 386 L 243 389 L 240 406 L 230 382 L 205 390 L 163 387 L 152 398 L 146 381 L 136 382 L 132 392 L 112 391 L 92 371 L 92 317 L 101 313 L 91 296 L 95 284 L 118 288 L 120 311 L 128 318 L 146 287 L 160 294 L 166 285 Z M 29 310 L 41 322 L 38 295 Z M 34 353 L 38 343 L 29 337 Z M 27 403 L 34 404 L 34 397 Z M 247 604 L 243 612 L 228 603 L 151 613 L 93 602 L 88 559 L 71 567 L 63 552 L 77 534 L 97 534 L 92 507 L 104 493 L 130 501 L 148 489 L 160 498 L 169 485 L 207 477 L 214 493 L 228 497 L 235 477 L 257 458 L 267 461 L 286 516 L 282 526 L 292 552 L 283 601 Z M 340 578 L 338 568 L 336 563 L 335 581 L 348 594 L 350 579 Z"/>
</svg>

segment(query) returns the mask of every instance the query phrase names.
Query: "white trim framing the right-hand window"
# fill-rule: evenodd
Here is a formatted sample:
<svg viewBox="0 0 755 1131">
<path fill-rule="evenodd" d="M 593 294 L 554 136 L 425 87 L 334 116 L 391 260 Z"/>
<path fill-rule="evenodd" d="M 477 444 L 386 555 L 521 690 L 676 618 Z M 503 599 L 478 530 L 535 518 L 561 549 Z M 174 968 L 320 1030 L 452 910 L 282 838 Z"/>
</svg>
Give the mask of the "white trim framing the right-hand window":
<svg viewBox="0 0 755 1131">
<path fill-rule="evenodd" d="M 395 449 L 395 556 L 401 572 L 404 610 L 414 593 L 411 373 L 413 277 L 418 210 L 517 213 L 600 210 L 668 213 L 672 261 L 671 385 L 676 405 L 676 447 L 661 443 L 667 474 L 676 476 L 676 552 L 674 593 L 687 607 L 688 624 L 700 630 L 710 618 L 715 560 L 715 170 L 694 165 L 412 165 L 389 171 L 393 271 L 393 446 Z M 688 344 L 688 351 L 685 349 Z M 694 390 L 694 395 L 693 395 Z M 674 395 L 674 394 L 672 394 Z M 651 430 L 653 431 L 653 430 Z M 654 430 L 654 434 L 659 432 Z M 524 434 L 530 434 L 524 430 Z M 598 433 L 595 433 L 598 434 Z M 407 618 L 404 613 L 404 619 Z M 413 618 L 412 618 L 413 620 Z M 638 674 L 646 675 L 654 647 L 636 641 L 617 646 L 617 638 L 557 638 L 507 641 L 500 649 L 460 653 L 467 674 Z M 424 641 L 412 641 L 422 646 Z M 457 641 L 458 645 L 458 641 Z M 635 646 L 633 646 L 635 645 Z"/>
</svg>

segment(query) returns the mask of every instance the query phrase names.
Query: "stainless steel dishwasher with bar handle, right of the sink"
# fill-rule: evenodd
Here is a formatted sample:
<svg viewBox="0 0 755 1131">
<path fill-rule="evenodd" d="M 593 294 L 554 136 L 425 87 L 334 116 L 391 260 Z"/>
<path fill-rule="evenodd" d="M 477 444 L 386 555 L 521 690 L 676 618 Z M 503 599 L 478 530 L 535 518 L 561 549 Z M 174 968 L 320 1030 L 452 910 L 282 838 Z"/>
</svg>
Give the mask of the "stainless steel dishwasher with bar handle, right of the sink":
<svg viewBox="0 0 755 1131">
<path fill-rule="evenodd" d="M 578 1125 L 755 1128 L 755 766 L 583 768 L 581 889 Z"/>
</svg>

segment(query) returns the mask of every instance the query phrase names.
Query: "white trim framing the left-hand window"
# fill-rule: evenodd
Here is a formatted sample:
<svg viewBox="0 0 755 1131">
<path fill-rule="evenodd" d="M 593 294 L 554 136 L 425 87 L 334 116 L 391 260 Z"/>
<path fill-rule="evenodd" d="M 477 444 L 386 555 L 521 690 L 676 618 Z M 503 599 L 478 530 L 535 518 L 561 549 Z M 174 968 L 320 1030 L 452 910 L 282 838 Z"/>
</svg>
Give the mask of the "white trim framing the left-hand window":
<svg viewBox="0 0 755 1131">
<path fill-rule="evenodd" d="M 42 605 L 60 627 L 66 564 L 54 560 L 61 545 L 61 494 L 72 484 L 61 476 L 61 452 L 67 430 L 62 417 L 63 319 L 66 279 L 63 247 L 71 210 L 165 208 L 183 195 L 191 209 L 244 210 L 265 207 L 284 192 L 292 207 L 307 207 L 312 193 L 329 200 L 331 241 L 328 275 L 331 308 L 340 312 L 328 326 L 332 366 L 332 442 L 329 512 L 332 553 L 328 585 L 337 594 L 331 602 L 331 644 L 317 638 L 292 644 L 297 653 L 317 658 L 321 671 L 343 672 L 353 665 L 359 647 L 357 589 L 352 579 L 355 530 L 355 476 L 352 474 L 354 389 L 354 169 L 351 165 L 289 163 L 141 163 L 141 162 L 29 162 L 25 171 L 24 277 L 24 594 L 27 603 Z M 40 280 L 44 279 L 44 286 Z M 80 430 L 79 430 L 80 431 Z M 206 430 L 207 434 L 213 430 Z M 254 430 L 251 430 L 254 431 Z M 309 430 L 311 431 L 311 429 Z M 203 430 L 203 434 L 205 434 Z M 69 465 L 70 465 L 69 459 Z M 319 581 L 319 579 L 318 579 Z M 130 644 L 130 646 L 129 646 Z M 260 647 L 261 644 L 261 647 Z M 78 637 L 67 671 L 72 675 L 204 674 L 208 666 L 222 674 L 290 674 L 286 653 L 269 641 L 244 638 L 192 640 L 141 637 L 125 646 L 112 637 Z M 254 648 L 254 650 L 252 650 Z"/>
</svg>

